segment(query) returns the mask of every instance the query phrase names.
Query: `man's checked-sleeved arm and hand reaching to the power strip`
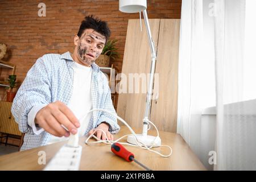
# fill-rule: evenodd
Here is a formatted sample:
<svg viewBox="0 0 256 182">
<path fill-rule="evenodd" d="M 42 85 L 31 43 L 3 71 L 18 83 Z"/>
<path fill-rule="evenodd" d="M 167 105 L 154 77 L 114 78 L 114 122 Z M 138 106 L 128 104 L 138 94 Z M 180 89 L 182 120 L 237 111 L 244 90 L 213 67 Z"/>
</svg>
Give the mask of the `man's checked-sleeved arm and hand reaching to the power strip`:
<svg viewBox="0 0 256 182">
<path fill-rule="evenodd" d="M 29 127 L 33 127 L 32 123 L 57 137 L 68 137 L 69 132 L 76 134 L 77 127 L 80 126 L 78 119 L 63 102 L 51 103 L 51 76 L 42 58 L 28 71 L 14 98 L 11 112 L 22 133 L 27 133 Z M 32 118 L 32 121 L 29 122 L 28 118 Z M 35 130 L 33 129 L 35 134 L 43 131 L 36 133 Z"/>
</svg>

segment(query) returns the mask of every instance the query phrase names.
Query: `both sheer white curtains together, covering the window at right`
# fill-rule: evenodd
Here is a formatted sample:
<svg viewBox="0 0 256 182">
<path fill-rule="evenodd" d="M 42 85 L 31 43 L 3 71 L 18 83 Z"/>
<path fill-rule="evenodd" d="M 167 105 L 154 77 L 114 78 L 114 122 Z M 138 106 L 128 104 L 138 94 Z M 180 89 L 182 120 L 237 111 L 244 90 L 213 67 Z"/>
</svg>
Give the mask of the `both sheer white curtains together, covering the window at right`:
<svg viewBox="0 0 256 182">
<path fill-rule="evenodd" d="M 182 1 L 177 133 L 201 159 L 201 114 L 214 106 L 216 170 L 256 169 L 255 2 Z"/>
</svg>

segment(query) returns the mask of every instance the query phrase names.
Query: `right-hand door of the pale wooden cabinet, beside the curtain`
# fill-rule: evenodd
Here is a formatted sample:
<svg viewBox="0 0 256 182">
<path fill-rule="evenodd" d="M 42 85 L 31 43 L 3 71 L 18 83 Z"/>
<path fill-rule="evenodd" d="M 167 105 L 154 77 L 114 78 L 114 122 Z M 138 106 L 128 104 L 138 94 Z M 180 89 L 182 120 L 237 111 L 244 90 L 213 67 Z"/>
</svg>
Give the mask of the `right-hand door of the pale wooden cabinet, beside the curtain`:
<svg viewBox="0 0 256 182">
<path fill-rule="evenodd" d="M 159 97 L 152 100 L 151 121 L 158 130 L 176 133 L 180 19 L 161 19 L 155 73 Z M 156 81 L 156 80 L 155 80 Z M 156 82 L 154 83 L 156 86 Z"/>
</svg>

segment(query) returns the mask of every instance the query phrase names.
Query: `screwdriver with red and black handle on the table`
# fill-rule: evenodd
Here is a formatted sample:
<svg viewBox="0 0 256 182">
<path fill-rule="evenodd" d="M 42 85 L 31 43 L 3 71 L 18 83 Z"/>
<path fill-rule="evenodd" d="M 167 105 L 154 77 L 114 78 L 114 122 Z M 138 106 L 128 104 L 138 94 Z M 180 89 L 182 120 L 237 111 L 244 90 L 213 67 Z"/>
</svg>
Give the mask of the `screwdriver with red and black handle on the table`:
<svg viewBox="0 0 256 182">
<path fill-rule="evenodd" d="M 118 155 L 119 157 L 125 159 L 127 162 L 132 162 L 134 161 L 135 163 L 139 164 L 143 168 L 145 168 L 147 171 L 152 171 L 150 168 L 144 166 L 144 164 L 138 162 L 138 160 L 134 159 L 134 154 L 131 153 L 130 151 L 127 151 L 125 147 L 122 146 L 122 144 L 115 142 L 111 146 L 111 151 L 115 154 Z"/>
</svg>

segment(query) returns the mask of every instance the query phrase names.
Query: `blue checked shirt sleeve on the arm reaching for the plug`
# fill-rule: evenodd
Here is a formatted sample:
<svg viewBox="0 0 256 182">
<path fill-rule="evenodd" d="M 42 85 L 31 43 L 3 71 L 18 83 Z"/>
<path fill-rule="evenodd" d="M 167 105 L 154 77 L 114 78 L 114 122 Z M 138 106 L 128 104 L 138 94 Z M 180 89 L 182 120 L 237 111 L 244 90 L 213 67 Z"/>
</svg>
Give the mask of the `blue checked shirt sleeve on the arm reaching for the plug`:
<svg viewBox="0 0 256 182">
<path fill-rule="evenodd" d="M 33 119 L 31 119 L 30 124 L 28 123 L 28 113 L 31 111 L 30 118 L 33 118 L 38 109 L 31 109 L 34 106 L 47 105 L 51 102 L 50 86 L 50 73 L 47 71 L 44 60 L 40 57 L 28 71 L 11 106 L 11 113 L 22 133 L 27 133 L 31 129 L 31 125 L 33 126 Z"/>
</svg>

